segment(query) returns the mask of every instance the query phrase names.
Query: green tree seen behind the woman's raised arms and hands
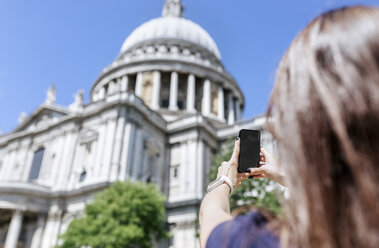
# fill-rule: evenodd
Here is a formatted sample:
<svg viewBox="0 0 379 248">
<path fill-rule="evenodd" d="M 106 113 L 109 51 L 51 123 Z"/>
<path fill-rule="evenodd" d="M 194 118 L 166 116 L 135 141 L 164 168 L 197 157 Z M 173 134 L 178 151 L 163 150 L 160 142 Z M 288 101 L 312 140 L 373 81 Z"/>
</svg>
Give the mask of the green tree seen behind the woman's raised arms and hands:
<svg viewBox="0 0 379 248">
<path fill-rule="evenodd" d="M 210 181 L 215 180 L 217 169 L 223 161 L 228 161 L 232 156 L 234 139 L 227 140 L 220 152 L 213 159 L 213 165 L 209 172 Z M 277 185 L 268 179 L 249 179 L 242 182 L 230 197 L 230 208 L 234 210 L 245 205 L 254 205 L 268 209 L 276 214 L 280 213 L 281 207 L 278 201 Z"/>
</svg>

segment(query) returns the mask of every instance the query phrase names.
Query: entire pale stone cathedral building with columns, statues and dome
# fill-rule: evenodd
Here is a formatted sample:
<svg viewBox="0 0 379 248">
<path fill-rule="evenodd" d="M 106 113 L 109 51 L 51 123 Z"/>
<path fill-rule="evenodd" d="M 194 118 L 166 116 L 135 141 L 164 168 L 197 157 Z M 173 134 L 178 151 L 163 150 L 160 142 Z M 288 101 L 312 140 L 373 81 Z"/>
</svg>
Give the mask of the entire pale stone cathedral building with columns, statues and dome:
<svg viewBox="0 0 379 248">
<path fill-rule="evenodd" d="M 93 194 L 117 180 L 165 194 L 169 247 L 195 248 L 195 220 L 214 154 L 242 128 L 244 95 L 211 36 L 182 17 L 180 0 L 134 30 L 114 62 L 62 106 L 51 87 L 0 136 L 0 247 L 52 248 Z M 263 131 L 264 145 L 272 144 Z"/>
</svg>

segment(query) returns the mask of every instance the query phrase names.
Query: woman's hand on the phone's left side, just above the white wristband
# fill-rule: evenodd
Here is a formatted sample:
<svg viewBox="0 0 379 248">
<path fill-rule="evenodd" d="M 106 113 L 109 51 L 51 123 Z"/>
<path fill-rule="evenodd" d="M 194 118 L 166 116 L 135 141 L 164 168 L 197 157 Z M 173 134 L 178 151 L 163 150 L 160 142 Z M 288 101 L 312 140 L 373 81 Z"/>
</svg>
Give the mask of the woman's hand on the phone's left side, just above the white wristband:
<svg viewBox="0 0 379 248">
<path fill-rule="evenodd" d="M 233 183 L 233 187 L 236 189 L 241 185 L 242 181 L 249 178 L 250 173 L 238 173 L 238 155 L 240 153 L 240 140 L 239 138 L 234 143 L 234 150 L 232 157 L 228 162 L 222 162 L 218 167 L 217 178 L 221 176 L 227 176 Z"/>
</svg>

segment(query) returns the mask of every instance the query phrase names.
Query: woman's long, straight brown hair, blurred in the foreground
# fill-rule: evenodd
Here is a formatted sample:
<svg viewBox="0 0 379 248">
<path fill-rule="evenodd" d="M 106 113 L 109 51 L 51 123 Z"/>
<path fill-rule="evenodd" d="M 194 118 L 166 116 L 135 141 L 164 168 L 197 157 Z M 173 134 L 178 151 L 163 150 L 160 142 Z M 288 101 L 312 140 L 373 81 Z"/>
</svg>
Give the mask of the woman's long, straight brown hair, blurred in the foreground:
<svg viewBox="0 0 379 248">
<path fill-rule="evenodd" d="M 280 62 L 267 116 L 292 245 L 379 247 L 379 9 L 312 21 Z"/>
</svg>

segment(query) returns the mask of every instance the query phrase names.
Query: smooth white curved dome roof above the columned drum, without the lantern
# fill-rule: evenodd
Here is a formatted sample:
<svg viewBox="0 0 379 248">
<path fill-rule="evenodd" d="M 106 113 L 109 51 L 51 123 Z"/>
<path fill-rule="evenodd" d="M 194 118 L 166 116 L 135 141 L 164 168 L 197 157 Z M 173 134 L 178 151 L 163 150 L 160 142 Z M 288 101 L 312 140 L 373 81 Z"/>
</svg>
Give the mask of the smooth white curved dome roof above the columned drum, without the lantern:
<svg viewBox="0 0 379 248">
<path fill-rule="evenodd" d="M 188 41 L 207 49 L 221 59 L 217 45 L 207 31 L 190 20 L 175 16 L 152 19 L 139 26 L 124 41 L 121 53 L 141 42 L 158 39 Z"/>
</svg>

